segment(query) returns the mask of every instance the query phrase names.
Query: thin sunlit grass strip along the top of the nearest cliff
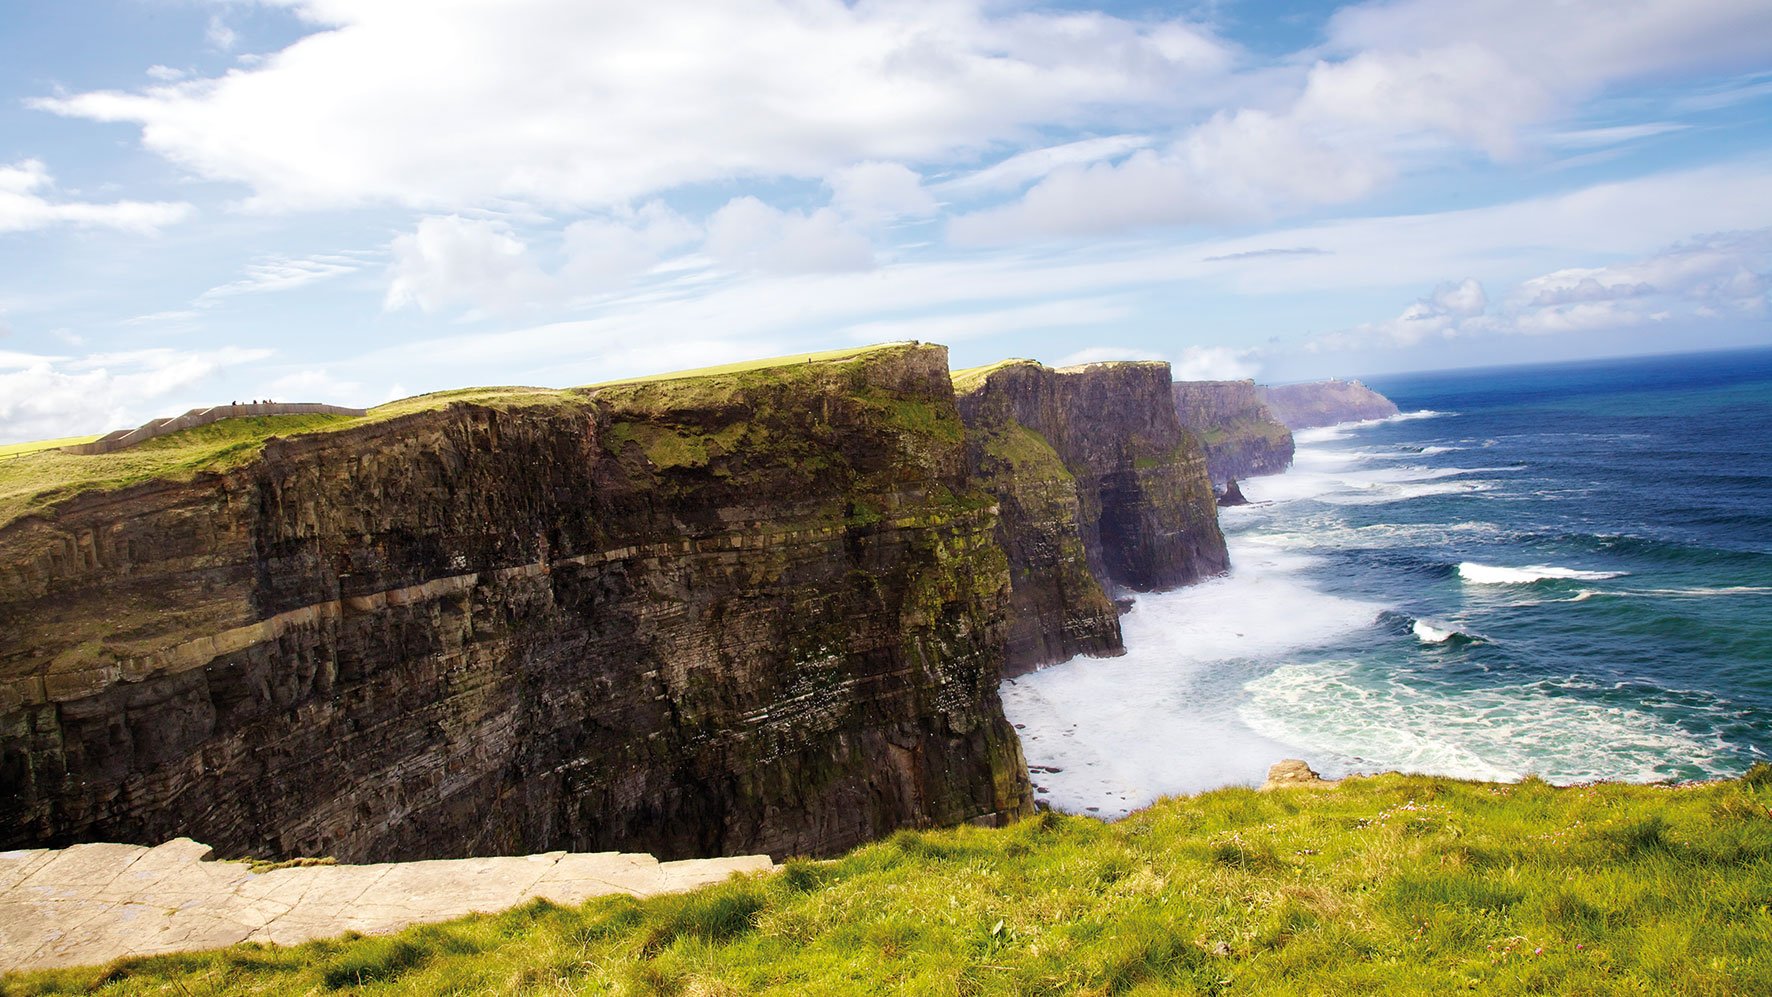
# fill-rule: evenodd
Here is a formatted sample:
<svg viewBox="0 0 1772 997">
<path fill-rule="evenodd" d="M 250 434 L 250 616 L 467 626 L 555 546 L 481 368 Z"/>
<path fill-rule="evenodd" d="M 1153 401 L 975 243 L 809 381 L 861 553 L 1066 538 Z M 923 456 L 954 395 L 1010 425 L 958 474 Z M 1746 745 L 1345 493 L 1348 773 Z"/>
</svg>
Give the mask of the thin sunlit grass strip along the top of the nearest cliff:
<svg viewBox="0 0 1772 997">
<path fill-rule="evenodd" d="M 197 429 L 161 436 L 115 453 L 76 455 L 55 450 L 67 443 L 89 443 L 96 437 L 46 439 L 39 443 L 12 443 L 0 448 L 0 526 L 71 498 L 80 492 L 122 489 L 151 480 L 190 480 L 202 471 L 227 471 L 257 457 L 266 441 L 276 436 L 310 432 L 337 432 L 369 423 L 388 421 L 415 413 L 443 409 L 452 404 L 477 404 L 500 409 L 528 406 L 581 406 L 587 391 L 611 390 L 622 384 L 661 386 L 664 383 L 696 383 L 730 379 L 732 375 L 758 375 L 769 368 L 799 367 L 806 363 L 842 363 L 874 351 L 902 347 L 904 344 L 867 345 L 826 352 L 803 352 L 677 370 L 626 381 L 608 381 L 588 388 L 461 388 L 432 391 L 376 406 L 367 416 L 259 416 L 234 418 Z M 668 397 L 668 395 L 666 395 Z"/>
</svg>

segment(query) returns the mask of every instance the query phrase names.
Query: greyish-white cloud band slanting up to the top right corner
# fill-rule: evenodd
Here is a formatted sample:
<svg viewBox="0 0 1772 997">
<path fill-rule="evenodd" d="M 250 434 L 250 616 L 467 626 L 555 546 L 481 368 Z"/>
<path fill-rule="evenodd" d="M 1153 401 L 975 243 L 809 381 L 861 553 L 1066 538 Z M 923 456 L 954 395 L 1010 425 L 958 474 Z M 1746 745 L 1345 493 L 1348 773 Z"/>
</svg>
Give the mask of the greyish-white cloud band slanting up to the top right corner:
<svg viewBox="0 0 1772 997">
<path fill-rule="evenodd" d="M 1014 243 L 1347 204 L 1434 149 L 1512 158 L 1524 129 L 1577 101 L 1632 80 L 1714 73 L 1714 51 L 1721 67 L 1763 66 L 1772 7 L 1363 4 L 1331 19 L 1320 51 L 1286 99 L 1223 110 L 1118 161 L 1056 168 L 1022 198 L 962 216 L 950 232 L 962 243 Z"/>
</svg>

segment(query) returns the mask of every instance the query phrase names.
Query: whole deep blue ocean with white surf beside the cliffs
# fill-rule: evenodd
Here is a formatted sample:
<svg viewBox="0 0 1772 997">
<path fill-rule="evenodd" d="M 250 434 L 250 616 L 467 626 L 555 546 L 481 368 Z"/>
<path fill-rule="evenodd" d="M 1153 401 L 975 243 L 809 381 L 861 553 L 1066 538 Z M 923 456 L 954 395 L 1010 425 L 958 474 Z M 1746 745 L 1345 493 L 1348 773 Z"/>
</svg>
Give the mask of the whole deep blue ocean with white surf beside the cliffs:
<svg viewBox="0 0 1772 997">
<path fill-rule="evenodd" d="M 1737 776 L 1772 753 L 1772 349 L 1370 379 L 1223 510 L 1232 572 L 1003 684 L 1038 799 L 1118 816 L 1407 770 Z"/>
</svg>

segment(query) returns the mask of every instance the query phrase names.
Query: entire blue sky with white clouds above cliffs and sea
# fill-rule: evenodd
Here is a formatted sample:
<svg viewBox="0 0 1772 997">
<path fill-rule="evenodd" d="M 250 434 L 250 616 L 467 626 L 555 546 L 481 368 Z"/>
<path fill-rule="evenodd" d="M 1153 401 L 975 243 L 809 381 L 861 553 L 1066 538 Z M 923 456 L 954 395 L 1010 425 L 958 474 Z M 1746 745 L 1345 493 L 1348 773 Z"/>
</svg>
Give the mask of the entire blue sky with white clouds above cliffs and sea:
<svg viewBox="0 0 1772 997">
<path fill-rule="evenodd" d="M 925 340 L 1772 344 L 1772 4 L 7 0 L 0 443 Z"/>
</svg>

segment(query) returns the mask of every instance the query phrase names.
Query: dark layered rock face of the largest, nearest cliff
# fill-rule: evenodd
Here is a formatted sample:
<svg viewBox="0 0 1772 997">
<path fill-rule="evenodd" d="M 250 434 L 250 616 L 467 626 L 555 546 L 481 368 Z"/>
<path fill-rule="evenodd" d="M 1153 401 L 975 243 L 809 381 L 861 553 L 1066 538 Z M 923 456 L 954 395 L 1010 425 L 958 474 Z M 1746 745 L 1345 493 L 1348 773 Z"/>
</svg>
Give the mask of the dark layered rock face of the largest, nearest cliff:
<svg viewBox="0 0 1772 997">
<path fill-rule="evenodd" d="M 1022 815 L 994 526 L 916 344 L 78 496 L 0 529 L 0 846 L 780 857 Z"/>
</svg>

